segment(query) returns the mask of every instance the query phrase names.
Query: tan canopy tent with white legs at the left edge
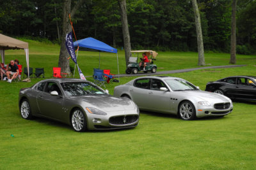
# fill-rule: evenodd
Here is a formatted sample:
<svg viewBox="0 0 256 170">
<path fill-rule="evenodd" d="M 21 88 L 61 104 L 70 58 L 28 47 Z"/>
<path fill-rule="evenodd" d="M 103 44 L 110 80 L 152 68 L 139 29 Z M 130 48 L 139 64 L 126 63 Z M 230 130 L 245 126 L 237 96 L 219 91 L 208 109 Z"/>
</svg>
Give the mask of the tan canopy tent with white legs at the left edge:
<svg viewBox="0 0 256 170">
<path fill-rule="evenodd" d="M 26 54 L 26 62 L 28 68 L 28 77 L 29 77 L 29 50 L 28 43 L 20 41 L 19 39 L 11 38 L 9 36 L 4 36 L 0 34 L 0 53 L 2 57 L 2 62 L 5 64 L 4 60 L 4 51 L 5 50 L 19 50 L 24 49 Z"/>
</svg>

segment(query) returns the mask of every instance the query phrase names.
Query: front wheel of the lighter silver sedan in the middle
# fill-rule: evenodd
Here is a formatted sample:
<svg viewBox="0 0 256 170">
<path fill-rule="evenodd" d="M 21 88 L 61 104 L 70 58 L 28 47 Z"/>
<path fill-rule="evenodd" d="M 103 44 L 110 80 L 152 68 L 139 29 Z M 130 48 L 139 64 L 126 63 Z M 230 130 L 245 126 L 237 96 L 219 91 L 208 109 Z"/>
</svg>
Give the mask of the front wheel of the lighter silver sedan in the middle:
<svg viewBox="0 0 256 170">
<path fill-rule="evenodd" d="M 180 103 L 178 113 L 182 120 L 193 120 L 196 118 L 195 106 L 190 101 Z"/>
</svg>

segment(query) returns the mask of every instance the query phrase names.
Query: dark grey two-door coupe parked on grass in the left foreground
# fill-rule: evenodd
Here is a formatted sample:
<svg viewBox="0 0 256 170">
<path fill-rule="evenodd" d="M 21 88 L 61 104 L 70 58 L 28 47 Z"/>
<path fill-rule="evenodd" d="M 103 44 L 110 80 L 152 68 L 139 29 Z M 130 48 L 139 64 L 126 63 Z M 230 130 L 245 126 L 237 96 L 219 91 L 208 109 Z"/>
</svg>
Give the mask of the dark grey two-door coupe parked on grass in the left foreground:
<svg viewBox="0 0 256 170">
<path fill-rule="evenodd" d="M 19 108 L 22 118 L 51 118 L 77 132 L 136 127 L 140 115 L 130 99 L 113 97 L 90 81 L 66 78 L 20 89 Z"/>
</svg>

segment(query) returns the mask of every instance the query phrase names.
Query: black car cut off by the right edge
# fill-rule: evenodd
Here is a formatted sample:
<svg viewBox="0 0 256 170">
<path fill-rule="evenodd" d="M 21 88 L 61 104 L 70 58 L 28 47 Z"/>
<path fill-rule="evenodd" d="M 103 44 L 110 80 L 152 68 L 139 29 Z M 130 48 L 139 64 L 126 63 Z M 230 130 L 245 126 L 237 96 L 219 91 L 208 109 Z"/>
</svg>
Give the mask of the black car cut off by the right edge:
<svg viewBox="0 0 256 170">
<path fill-rule="evenodd" d="M 256 76 L 230 76 L 210 81 L 205 91 L 223 94 L 230 99 L 256 101 Z"/>
</svg>

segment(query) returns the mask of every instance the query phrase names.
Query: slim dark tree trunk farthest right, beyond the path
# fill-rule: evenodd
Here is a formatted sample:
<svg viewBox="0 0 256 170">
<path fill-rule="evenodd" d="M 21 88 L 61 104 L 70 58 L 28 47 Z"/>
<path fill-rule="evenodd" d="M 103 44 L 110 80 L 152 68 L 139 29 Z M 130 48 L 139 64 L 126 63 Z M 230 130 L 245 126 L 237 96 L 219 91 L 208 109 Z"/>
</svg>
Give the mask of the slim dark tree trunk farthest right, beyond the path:
<svg viewBox="0 0 256 170">
<path fill-rule="evenodd" d="M 230 64 L 236 64 L 236 2 L 237 0 L 232 2 Z"/>
</svg>

